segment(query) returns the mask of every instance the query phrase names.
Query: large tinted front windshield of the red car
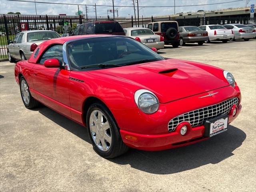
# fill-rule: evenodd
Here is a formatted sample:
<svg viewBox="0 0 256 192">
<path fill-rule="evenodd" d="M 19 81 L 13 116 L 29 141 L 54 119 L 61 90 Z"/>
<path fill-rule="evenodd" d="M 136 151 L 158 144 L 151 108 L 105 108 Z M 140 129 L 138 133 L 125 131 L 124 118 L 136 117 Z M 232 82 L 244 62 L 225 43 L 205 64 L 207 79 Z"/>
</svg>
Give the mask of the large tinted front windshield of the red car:
<svg viewBox="0 0 256 192">
<path fill-rule="evenodd" d="M 67 47 L 72 70 L 98 70 L 164 58 L 142 43 L 125 37 L 82 39 L 70 42 Z"/>
</svg>

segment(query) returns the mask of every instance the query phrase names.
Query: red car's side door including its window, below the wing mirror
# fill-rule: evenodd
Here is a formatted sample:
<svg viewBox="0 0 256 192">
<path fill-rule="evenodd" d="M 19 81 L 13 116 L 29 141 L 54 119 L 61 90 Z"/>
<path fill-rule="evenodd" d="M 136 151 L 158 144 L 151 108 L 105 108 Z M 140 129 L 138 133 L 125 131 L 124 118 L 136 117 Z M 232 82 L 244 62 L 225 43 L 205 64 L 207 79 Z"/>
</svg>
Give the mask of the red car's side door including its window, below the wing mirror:
<svg viewBox="0 0 256 192">
<path fill-rule="evenodd" d="M 55 44 L 42 54 L 33 67 L 33 85 L 37 98 L 50 108 L 70 117 L 69 75 L 70 71 L 62 68 L 47 68 L 44 61 L 56 58 L 63 60 L 62 45 Z"/>
</svg>

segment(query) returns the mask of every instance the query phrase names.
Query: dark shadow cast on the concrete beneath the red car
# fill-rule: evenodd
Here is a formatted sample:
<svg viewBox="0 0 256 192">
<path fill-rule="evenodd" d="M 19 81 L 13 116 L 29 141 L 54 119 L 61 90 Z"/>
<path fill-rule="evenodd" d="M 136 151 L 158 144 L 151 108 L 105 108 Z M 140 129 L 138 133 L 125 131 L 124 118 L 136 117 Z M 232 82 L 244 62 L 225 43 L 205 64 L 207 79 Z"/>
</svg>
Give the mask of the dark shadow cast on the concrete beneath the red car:
<svg viewBox="0 0 256 192">
<path fill-rule="evenodd" d="M 84 126 L 46 106 L 34 110 L 82 140 L 91 143 Z M 229 125 L 228 131 L 196 144 L 154 152 L 130 148 L 126 154 L 107 160 L 121 165 L 129 164 L 134 169 L 148 173 L 173 174 L 207 164 L 218 164 L 234 155 L 233 151 L 242 145 L 245 138 L 246 134 L 242 130 Z"/>
</svg>

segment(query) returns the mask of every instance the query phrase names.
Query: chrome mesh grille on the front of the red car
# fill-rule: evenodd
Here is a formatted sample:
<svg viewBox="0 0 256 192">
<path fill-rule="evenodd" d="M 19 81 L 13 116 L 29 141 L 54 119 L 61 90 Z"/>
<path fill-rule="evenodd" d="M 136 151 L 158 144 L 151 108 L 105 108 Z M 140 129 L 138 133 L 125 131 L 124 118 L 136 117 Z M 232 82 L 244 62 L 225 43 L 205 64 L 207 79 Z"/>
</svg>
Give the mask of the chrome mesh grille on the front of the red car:
<svg viewBox="0 0 256 192">
<path fill-rule="evenodd" d="M 233 105 L 238 105 L 238 98 L 231 98 L 215 105 L 181 114 L 169 121 L 168 131 L 174 131 L 178 124 L 184 121 L 189 122 L 192 127 L 202 125 L 206 122 L 206 120 L 228 114 Z"/>
</svg>

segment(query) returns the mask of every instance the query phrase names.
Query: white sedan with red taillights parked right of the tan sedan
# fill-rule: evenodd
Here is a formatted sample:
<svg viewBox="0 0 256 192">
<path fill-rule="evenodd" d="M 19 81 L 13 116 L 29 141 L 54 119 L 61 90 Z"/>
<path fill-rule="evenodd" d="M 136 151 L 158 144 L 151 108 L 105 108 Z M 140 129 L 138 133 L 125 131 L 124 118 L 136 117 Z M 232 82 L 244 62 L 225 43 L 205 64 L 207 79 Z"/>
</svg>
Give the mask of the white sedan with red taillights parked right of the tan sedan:
<svg viewBox="0 0 256 192">
<path fill-rule="evenodd" d="M 210 41 L 222 41 L 226 43 L 229 39 L 234 38 L 233 31 L 221 25 L 203 25 L 199 26 L 199 28 L 208 32 L 209 39 L 205 41 L 206 43 Z"/>
</svg>

